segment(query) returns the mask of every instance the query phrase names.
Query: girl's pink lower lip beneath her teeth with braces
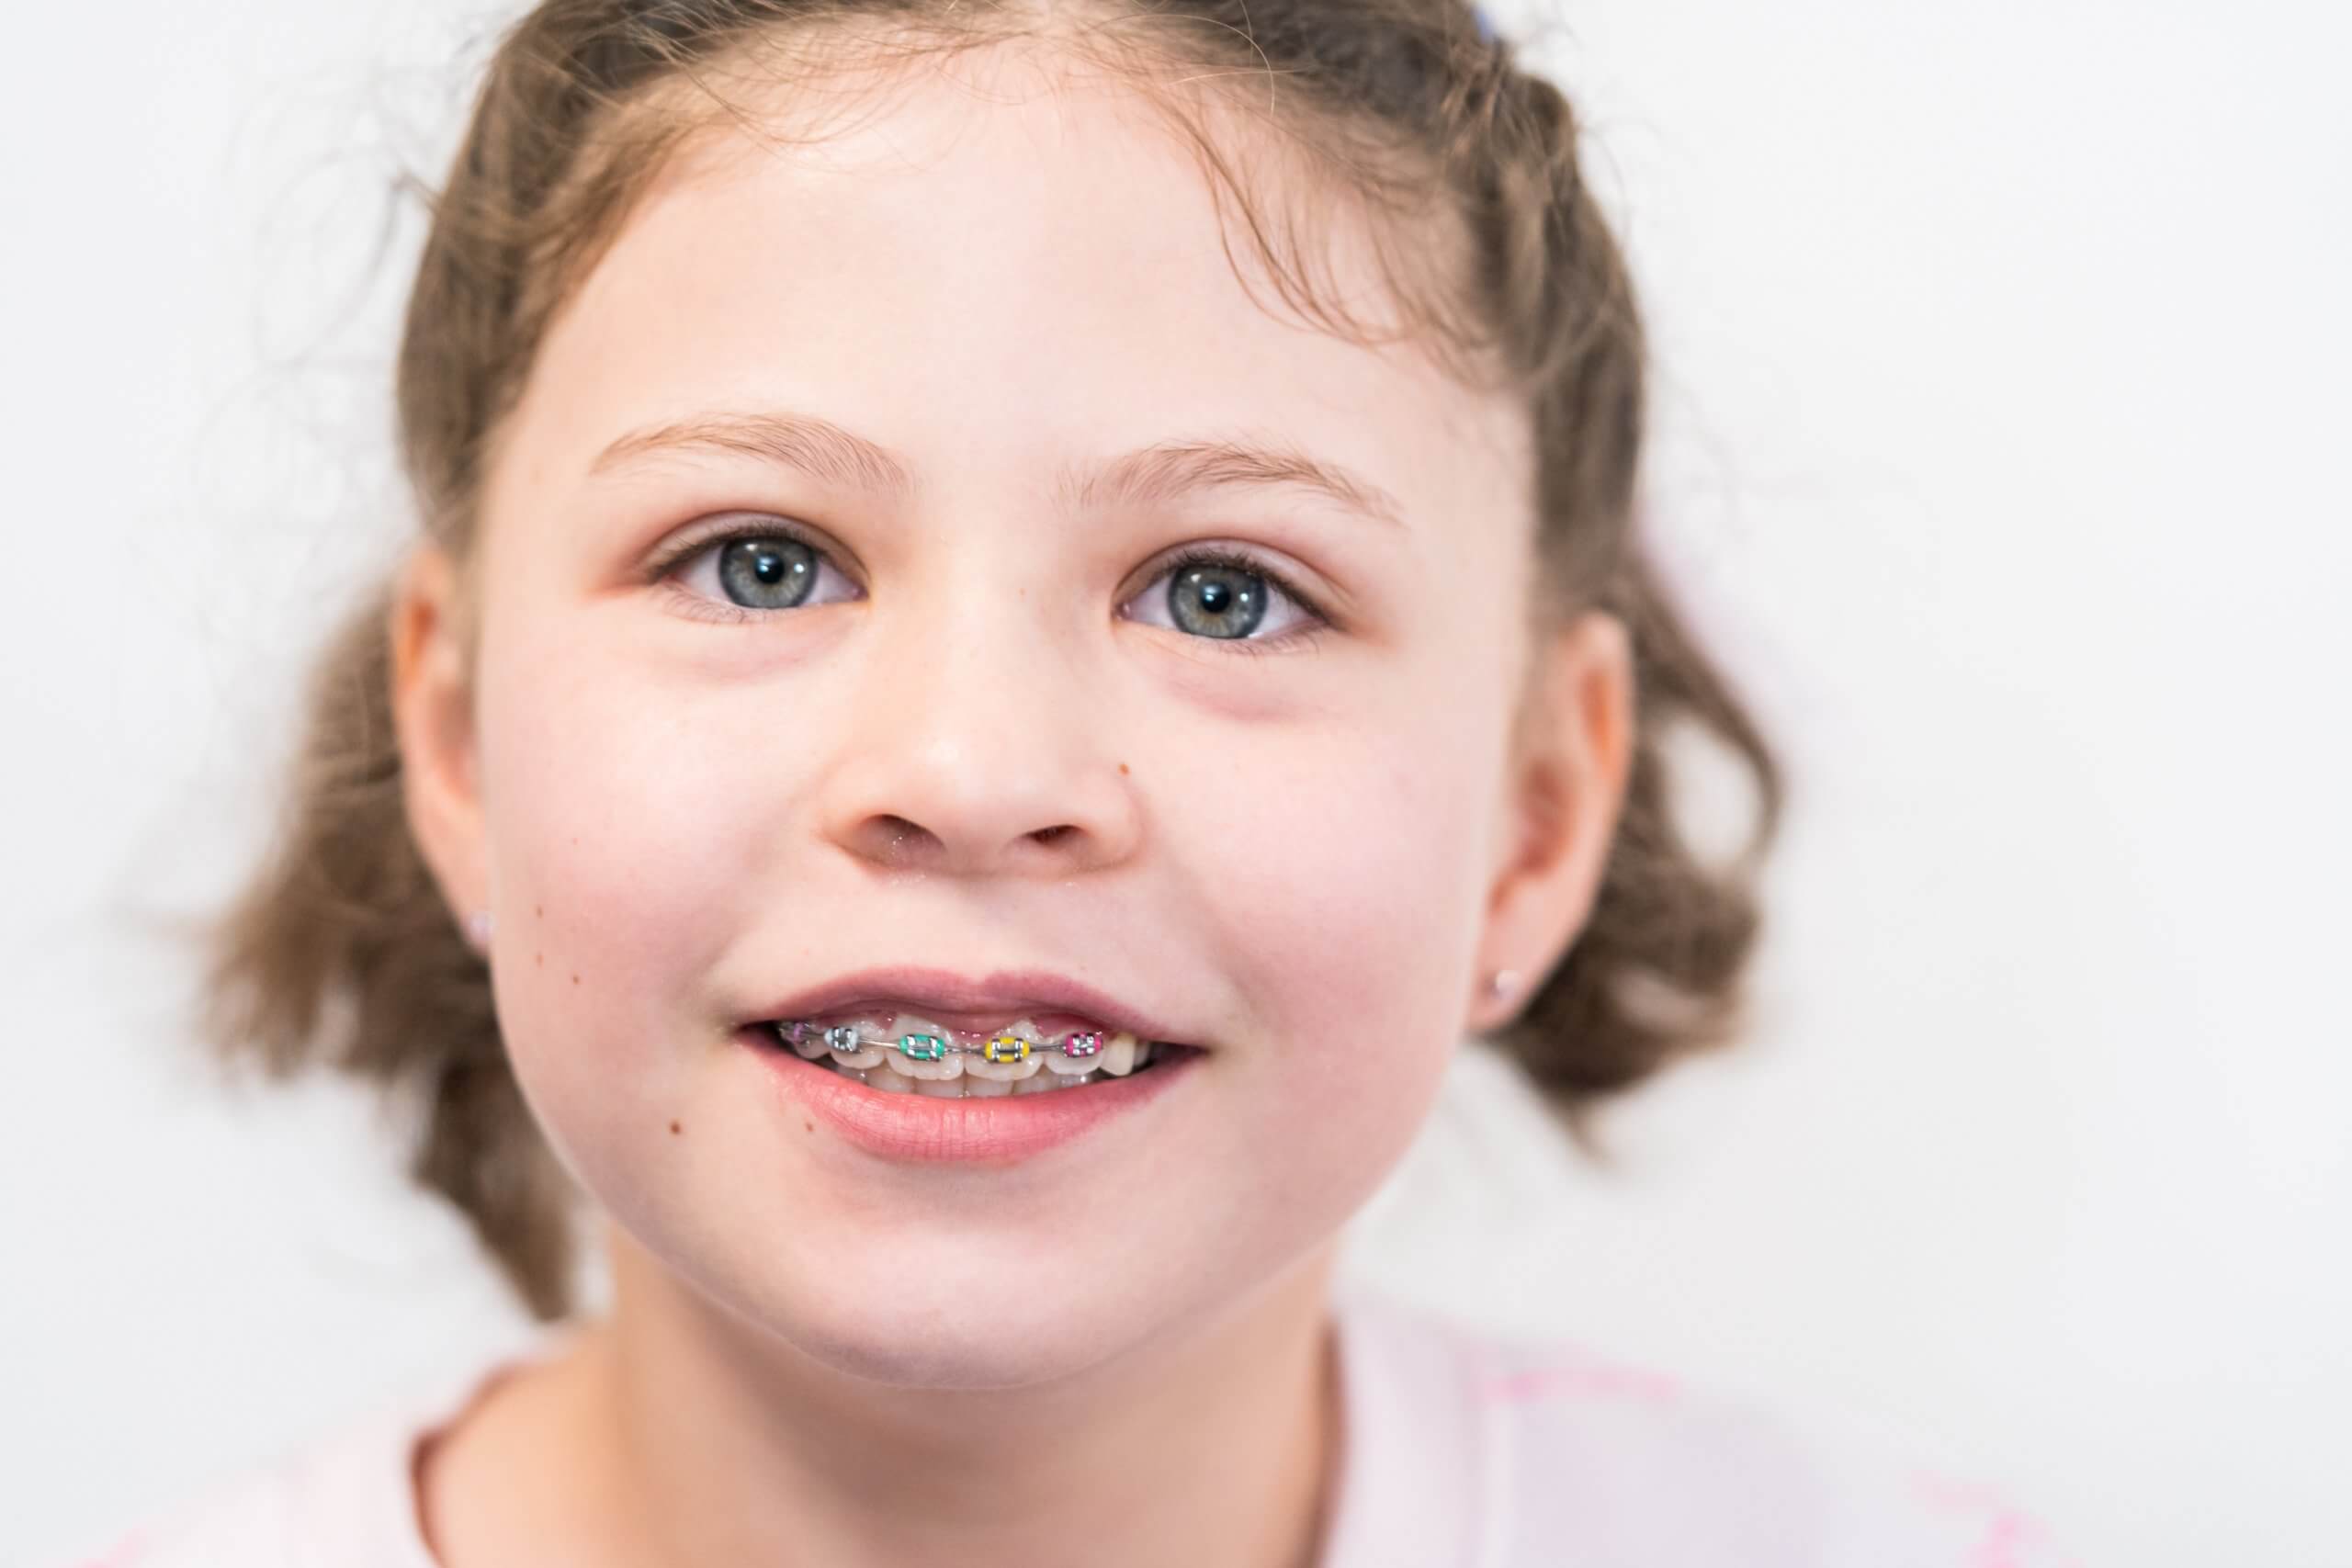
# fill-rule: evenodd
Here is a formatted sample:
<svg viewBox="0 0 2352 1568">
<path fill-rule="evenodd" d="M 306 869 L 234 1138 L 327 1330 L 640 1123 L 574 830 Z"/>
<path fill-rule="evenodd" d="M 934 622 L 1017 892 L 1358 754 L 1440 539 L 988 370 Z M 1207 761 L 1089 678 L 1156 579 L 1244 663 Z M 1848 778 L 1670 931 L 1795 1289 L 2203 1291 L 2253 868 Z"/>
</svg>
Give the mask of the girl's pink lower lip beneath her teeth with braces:
<svg viewBox="0 0 2352 1568">
<path fill-rule="evenodd" d="M 757 1044 L 757 1034 L 760 1030 L 746 1032 L 746 1048 L 776 1070 L 779 1084 L 793 1100 L 861 1150 L 917 1164 L 1011 1164 L 1044 1154 L 1105 1121 L 1143 1110 L 1185 1079 L 1204 1056 L 1178 1051 L 1155 1058 L 1148 1070 L 1124 1079 L 1096 1079 L 1042 1095 L 941 1100 L 868 1088 L 790 1048 Z"/>
</svg>

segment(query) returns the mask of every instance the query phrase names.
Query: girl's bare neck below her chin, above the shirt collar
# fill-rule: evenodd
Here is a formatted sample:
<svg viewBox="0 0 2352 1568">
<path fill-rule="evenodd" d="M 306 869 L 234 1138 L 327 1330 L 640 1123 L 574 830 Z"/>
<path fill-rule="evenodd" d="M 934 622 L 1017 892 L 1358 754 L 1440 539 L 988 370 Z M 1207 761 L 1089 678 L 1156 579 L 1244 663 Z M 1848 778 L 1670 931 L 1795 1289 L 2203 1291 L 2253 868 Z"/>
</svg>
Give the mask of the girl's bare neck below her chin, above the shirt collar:
<svg viewBox="0 0 2352 1568">
<path fill-rule="evenodd" d="M 1331 1248 L 1188 1333 L 1021 1389 L 858 1380 L 619 1229 L 583 1399 L 633 1563 L 1312 1568 L 1338 1460 Z M 597 1495 L 597 1493 L 588 1493 Z M 628 1549 L 619 1549 L 628 1544 Z"/>
</svg>

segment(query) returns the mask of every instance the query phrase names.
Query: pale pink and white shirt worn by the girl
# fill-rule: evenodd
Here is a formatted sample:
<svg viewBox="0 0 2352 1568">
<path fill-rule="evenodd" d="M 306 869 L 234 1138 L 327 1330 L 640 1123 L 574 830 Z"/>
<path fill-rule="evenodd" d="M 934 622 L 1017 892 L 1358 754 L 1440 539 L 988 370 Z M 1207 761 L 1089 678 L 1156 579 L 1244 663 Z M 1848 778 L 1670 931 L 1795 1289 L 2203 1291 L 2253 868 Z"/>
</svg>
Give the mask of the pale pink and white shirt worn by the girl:
<svg viewBox="0 0 2352 1568">
<path fill-rule="evenodd" d="M 2079 1568 L 1978 1488 L 1670 1375 L 1350 1288 L 1334 1314 L 1343 1450 L 1319 1568 Z M 75 1568 L 440 1568 L 409 1460 L 515 1361 L 353 1420 Z"/>
</svg>

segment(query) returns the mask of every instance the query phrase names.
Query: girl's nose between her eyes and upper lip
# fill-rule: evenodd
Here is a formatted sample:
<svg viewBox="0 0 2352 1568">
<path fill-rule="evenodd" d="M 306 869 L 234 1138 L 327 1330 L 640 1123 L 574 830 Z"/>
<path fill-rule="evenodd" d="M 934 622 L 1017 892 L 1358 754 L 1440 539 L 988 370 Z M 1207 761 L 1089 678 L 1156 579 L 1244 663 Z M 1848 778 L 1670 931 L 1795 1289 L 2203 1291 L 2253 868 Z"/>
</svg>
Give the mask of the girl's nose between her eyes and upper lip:
<svg viewBox="0 0 2352 1568">
<path fill-rule="evenodd" d="M 1138 806 L 1101 665 L 1037 590 L 967 569 L 875 607 L 826 832 L 880 870 L 1070 877 L 1134 853 Z M 1007 609 L 1011 607 L 1011 609 Z"/>
</svg>

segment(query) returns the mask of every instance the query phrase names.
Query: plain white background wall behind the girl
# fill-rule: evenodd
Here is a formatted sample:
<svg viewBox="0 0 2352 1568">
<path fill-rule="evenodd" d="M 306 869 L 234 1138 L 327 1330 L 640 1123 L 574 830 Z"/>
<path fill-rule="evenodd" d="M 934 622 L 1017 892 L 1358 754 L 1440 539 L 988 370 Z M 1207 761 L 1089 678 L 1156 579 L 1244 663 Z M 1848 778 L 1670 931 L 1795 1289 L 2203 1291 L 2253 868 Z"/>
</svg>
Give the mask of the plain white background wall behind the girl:
<svg viewBox="0 0 2352 1568">
<path fill-rule="evenodd" d="M 12 7 L 0 1554 L 520 1331 L 153 917 L 254 851 L 383 433 L 454 0 Z M 1759 1025 L 1541 1143 L 1468 1058 L 1352 1267 L 2006 1486 L 2086 1563 L 2352 1563 L 2340 7 L 1592 0 L 1653 489 L 1795 818 Z M 143 924 L 146 922 L 146 924 Z"/>
</svg>

